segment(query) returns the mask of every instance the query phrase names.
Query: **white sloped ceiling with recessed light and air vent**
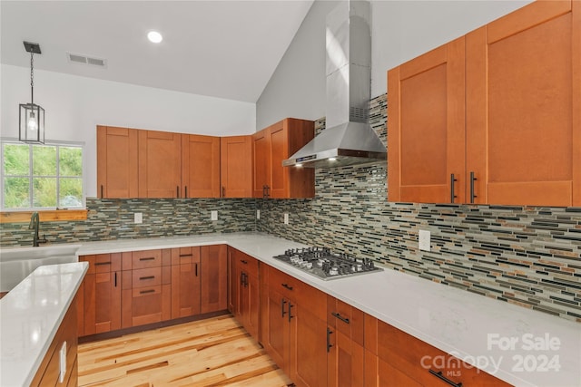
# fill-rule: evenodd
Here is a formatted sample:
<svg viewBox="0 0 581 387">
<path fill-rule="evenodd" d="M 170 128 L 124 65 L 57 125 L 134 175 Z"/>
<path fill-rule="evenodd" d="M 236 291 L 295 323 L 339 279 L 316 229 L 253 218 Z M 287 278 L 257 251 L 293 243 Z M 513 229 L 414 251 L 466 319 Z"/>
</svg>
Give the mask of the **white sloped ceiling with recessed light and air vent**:
<svg viewBox="0 0 581 387">
<path fill-rule="evenodd" d="M 256 102 L 313 0 L 0 1 L 1 61 Z M 162 33 L 152 44 L 147 32 Z M 66 53 L 105 59 L 70 63 Z"/>
</svg>

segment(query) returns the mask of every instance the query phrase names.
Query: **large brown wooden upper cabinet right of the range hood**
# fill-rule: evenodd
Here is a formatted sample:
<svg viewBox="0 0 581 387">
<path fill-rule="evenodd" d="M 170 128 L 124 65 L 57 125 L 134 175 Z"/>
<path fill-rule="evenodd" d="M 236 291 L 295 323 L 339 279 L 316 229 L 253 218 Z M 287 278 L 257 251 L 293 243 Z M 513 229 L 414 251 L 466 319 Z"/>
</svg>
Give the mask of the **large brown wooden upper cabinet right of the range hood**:
<svg viewBox="0 0 581 387">
<path fill-rule="evenodd" d="M 389 200 L 581 206 L 581 6 L 539 0 L 388 72 Z"/>
</svg>

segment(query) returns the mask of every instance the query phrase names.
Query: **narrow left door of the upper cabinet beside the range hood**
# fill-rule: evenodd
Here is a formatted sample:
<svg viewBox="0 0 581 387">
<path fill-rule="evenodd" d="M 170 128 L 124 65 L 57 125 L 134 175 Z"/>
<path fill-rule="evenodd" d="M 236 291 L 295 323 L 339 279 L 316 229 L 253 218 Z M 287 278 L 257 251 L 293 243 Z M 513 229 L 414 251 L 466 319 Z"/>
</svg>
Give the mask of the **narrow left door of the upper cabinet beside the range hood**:
<svg viewBox="0 0 581 387">
<path fill-rule="evenodd" d="M 268 129 L 252 135 L 252 196 L 262 198 L 271 185 L 271 135 Z"/>
</svg>

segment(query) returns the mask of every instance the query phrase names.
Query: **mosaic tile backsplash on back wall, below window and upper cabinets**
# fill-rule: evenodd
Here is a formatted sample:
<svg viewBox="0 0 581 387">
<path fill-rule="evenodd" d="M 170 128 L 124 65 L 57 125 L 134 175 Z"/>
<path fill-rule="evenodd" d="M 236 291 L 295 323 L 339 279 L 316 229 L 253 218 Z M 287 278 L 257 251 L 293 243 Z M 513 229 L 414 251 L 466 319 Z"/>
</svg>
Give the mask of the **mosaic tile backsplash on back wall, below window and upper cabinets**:
<svg viewBox="0 0 581 387">
<path fill-rule="evenodd" d="M 193 234 L 254 231 L 255 199 L 100 199 L 87 198 L 85 221 L 42 222 L 40 234 L 48 243 L 172 237 Z M 218 220 L 211 220 L 211 211 Z M 143 214 L 143 223 L 133 223 L 133 213 Z M 28 223 L 0 225 L 2 246 L 32 246 Z"/>
</svg>

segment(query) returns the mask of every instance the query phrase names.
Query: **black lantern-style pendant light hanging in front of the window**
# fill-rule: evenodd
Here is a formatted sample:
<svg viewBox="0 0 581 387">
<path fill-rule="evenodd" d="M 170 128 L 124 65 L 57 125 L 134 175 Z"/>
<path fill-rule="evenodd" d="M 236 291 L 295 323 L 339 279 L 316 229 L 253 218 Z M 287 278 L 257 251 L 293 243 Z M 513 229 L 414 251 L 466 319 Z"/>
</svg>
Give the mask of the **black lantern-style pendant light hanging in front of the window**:
<svg viewBox="0 0 581 387">
<path fill-rule="evenodd" d="M 40 45 L 24 42 L 30 53 L 30 103 L 20 104 L 18 140 L 44 144 L 44 109 L 34 104 L 34 53 L 40 52 Z"/>
</svg>

